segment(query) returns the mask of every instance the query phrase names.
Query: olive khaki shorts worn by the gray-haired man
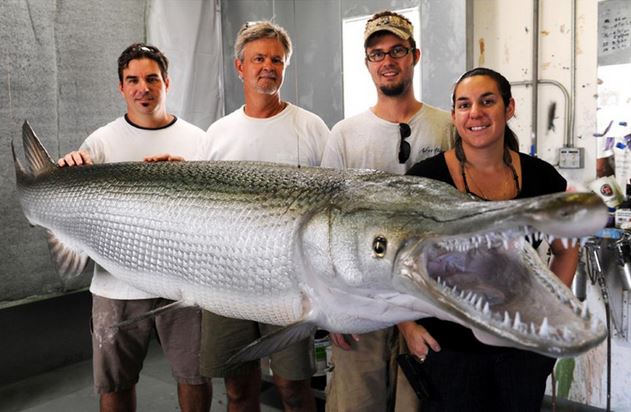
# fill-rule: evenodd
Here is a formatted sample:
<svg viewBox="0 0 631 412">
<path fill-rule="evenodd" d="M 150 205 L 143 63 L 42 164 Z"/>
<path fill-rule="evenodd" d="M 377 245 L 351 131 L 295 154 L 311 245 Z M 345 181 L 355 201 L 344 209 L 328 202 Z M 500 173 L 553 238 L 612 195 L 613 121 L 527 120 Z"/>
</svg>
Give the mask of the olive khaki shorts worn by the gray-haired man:
<svg viewBox="0 0 631 412">
<path fill-rule="evenodd" d="M 263 335 L 282 329 L 281 326 L 232 319 L 202 311 L 202 375 L 225 378 L 247 374 L 260 368 L 258 360 L 226 366 L 228 359 L 244 346 Z M 270 356 L 270 367 L 275 375 L 288 380 L 309 379 L 315 373 L 313 340 L 296 342 Z"/>
</svg>

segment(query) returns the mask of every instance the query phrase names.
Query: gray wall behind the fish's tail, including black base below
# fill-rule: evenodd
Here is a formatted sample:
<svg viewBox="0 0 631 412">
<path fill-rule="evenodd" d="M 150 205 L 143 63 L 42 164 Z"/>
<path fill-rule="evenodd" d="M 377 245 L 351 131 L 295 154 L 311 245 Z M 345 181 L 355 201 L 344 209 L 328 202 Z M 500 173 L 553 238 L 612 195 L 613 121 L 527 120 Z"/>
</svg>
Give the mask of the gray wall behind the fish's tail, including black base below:
<svg viewBox="0 0 631 412">
<path fill-rule="evenodd" d="M 90 276 L 55 273 L 43 231 L 18 204 L 10 142 L 21 146 L 28 120 L 57 158 L 124 113 L 116 58 L 144 40 L 144 21 L 145 1 L 0 2 L 0 385 L 92 352 L 90 295 L 67 294 Z"/>
</svg>

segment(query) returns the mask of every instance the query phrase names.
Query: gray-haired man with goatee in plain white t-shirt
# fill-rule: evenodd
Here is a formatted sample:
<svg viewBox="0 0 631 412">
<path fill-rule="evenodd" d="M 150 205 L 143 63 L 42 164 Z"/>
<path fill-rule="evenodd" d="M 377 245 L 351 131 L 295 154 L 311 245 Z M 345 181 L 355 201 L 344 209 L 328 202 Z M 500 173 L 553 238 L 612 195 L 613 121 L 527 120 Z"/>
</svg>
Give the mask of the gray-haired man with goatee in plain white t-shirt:
<svg viewBox="0 0 631 412">
<path fill-rule="evenodd" d="M 318 166 L 329 135 L 326 124 L 280 97 L 291 40 L 270 22 L 246 23 L 235 41 L 235 68 L 245 104 L 217 120 L 207 132 L 207 160 L 250 160 Z M 228 410 L 259 410 L 260 362 L 226 367 L 236 351 L 278 327 L 204 311 L 202 373 L 223 377 Z M 271 355 L 271 369 L 285 411 L 315 411 L 310 386 L 314 372 L 311 341 L 305 339 Z"/>
</svg>

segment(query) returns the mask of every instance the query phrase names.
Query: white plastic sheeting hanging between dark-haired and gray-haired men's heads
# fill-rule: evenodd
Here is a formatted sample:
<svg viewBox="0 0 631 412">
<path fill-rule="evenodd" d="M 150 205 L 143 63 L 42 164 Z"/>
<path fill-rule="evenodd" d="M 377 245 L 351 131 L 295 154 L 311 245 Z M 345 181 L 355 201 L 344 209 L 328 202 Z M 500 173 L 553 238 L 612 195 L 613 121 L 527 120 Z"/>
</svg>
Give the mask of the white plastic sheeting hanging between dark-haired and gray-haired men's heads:
<svg viewBox="0 0 631 412">
<path fill-rule="evenodd" d="M 153 0 L 147 42 L 169 58 L 167 105 L 206 130 L 224 114 L 221 0 Z"/>
</svg>

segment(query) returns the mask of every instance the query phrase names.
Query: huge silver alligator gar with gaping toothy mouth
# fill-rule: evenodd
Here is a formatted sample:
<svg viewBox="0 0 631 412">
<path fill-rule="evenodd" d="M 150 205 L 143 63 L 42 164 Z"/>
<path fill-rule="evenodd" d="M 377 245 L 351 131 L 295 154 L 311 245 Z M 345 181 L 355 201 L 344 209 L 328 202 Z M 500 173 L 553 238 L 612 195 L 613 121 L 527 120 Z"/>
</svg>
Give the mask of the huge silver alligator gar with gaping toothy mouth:
<svg viewBox="0 0 631 412">
<path fill-rule="evenodd" d="M 607 210 L 594 194 L 480 202 L 430 179 L 254 162 L 59 168 L 27 123 L 23 139 L 19 199 L 48 229 L 58 270 L 78 273 L 89 256 L 157 296 L 288 325 L 242 359 L 316 326 L 361 333 L 427 316 L 551 356 L 605 337 L 524 241 L 596 232 Z"/>
</svg>

